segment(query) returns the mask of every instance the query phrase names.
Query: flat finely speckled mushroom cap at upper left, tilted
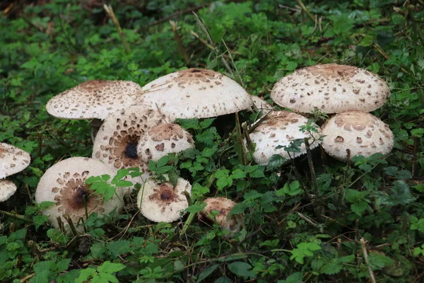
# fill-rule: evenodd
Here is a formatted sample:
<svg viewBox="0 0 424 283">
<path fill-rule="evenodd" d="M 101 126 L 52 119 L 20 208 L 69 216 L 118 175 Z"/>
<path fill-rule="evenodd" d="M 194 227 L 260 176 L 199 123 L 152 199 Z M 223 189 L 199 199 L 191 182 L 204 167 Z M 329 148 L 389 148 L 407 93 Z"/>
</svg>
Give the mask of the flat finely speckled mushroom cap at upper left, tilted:
<svg viewBox="0 0 424 283">
<path fill-rule="evenodd" d="M 130 95 L 140 90 L 132 81 L 86 81 L 51 98 L 46 109 L 58 118 L 105 120 L 110 112 L 133 105 Z"/>
</svg>

